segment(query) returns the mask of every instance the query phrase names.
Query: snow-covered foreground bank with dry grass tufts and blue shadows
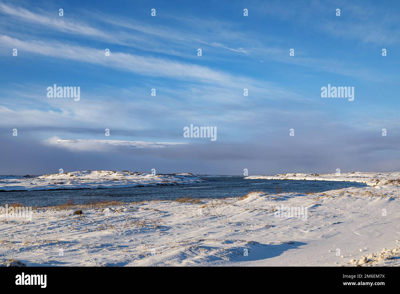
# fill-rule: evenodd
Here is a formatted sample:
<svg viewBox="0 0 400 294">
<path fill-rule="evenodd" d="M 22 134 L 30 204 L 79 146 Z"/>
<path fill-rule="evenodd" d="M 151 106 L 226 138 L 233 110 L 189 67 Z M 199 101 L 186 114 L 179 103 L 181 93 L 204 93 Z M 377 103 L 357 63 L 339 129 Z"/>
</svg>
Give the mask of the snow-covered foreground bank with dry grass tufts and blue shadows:
<svg viewBox="0 0 400 294">
<path fill-rule="evenodd" d="M 0 235 L 0 262 L 28 266 L 399 266 L 400 190 L 42 208 L 0 218 Z"/>
</svg>

